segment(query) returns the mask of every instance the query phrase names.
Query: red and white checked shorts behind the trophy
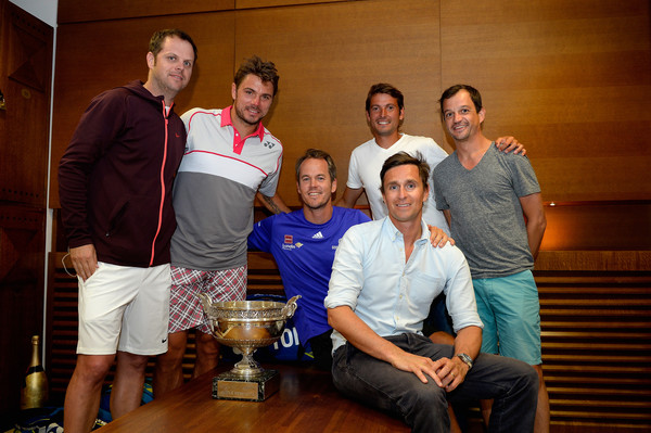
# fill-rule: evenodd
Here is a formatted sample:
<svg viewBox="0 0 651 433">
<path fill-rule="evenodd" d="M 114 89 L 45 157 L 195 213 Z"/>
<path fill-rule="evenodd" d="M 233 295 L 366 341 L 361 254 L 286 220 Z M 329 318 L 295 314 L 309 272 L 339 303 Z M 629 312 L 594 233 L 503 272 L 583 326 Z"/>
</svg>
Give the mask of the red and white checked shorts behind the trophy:
<svg viewBox="0 0 651 433">
<path fill-rule="evenodd" d="M 246 269 L 246 266 L 242 266 L 227 270 L 196 270 L 173 266 L 169 333 L 196 327 L 209 334 L 199 294 L 207 294 L 213 302 L 244 301 Z"/>
</svg>

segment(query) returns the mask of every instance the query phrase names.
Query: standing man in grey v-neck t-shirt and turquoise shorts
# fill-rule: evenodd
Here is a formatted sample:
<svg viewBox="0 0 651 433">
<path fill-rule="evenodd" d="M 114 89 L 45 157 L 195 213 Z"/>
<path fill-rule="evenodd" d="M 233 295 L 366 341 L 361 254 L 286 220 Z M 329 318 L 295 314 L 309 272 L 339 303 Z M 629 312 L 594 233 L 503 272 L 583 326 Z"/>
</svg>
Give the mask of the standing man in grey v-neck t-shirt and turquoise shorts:
<svg viewBox="0 0 651 433">
<path fill-rule="evenodd" d="M 483 135 L 486 111 L 476 89 L 450 87 L 439 102 L 457 150 L 434 169 L 436 207 L 470 265 L 484 322 L 482 352 L 521 359 L 536 369 L 540 386 L 535 431 L 549 432 L 540 305 L 531 271 L 547 224 L 540 188 L 525 156 L 496 151 Z M 489 411 L 487 406 L 483 409 Z"/>
</svg>

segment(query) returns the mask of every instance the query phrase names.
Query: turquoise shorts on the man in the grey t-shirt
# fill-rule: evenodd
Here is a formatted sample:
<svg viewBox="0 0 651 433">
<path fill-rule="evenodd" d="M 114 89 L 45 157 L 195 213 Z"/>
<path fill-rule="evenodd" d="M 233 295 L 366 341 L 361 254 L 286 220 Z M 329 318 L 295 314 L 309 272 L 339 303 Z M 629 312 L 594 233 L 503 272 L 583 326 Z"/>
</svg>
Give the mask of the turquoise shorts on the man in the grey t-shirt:
<svg viewBox="0 0 651 433">
<path fill-rule="evenodd" d="M 540 302 L 531 270 L 508 277 L 472 280 L 477 313 L 484 322 L 482 352 L 542 364 Z"/>
</svg>

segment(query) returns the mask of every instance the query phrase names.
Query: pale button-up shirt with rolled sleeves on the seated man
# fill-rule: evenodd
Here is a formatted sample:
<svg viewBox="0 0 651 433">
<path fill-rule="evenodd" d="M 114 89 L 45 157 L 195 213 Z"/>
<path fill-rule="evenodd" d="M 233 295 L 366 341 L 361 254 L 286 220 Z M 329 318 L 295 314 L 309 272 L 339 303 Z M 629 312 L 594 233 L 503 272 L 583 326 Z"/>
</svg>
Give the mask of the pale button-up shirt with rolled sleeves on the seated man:
<svg viewBox="0 0 651 433">
<path fill-rule="evenodd" d="M 379 335 L 422 333 L 432 301 L 446 294 L 455 332 L 476 326 L 477 315 L 470 269 L 459 249 L 430 243 L 422 235 L 406 260 L 403 233 L 388 217 L 352 227 L 342 238 L 332 265 L 327 308 L 349 306 Z M 333 349 L 346 340 L 333 331 Z"/>
</svg>

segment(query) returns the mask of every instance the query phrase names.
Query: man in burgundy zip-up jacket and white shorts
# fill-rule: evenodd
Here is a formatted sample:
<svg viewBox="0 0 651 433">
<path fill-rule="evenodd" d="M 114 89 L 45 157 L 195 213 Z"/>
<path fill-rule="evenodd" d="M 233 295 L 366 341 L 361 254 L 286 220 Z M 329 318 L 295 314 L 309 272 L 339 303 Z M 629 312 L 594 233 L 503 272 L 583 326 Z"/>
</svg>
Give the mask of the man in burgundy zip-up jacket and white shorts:
<svg viewBox="0 0 651 433">
<path fill-rule="evenodd" d="M 117 353 L 113 418 L 140 405 L 150 355 L 167 351 L 171 184 L 186 145 L 174 99 L 192 76 L 186 33 L 150 41 L 146 82 L 105 91 L 86 110 L 61 158 L 63 225 L 79 280 L 77 365 L 66 433 L 89 432 Z"/>
</svg>

